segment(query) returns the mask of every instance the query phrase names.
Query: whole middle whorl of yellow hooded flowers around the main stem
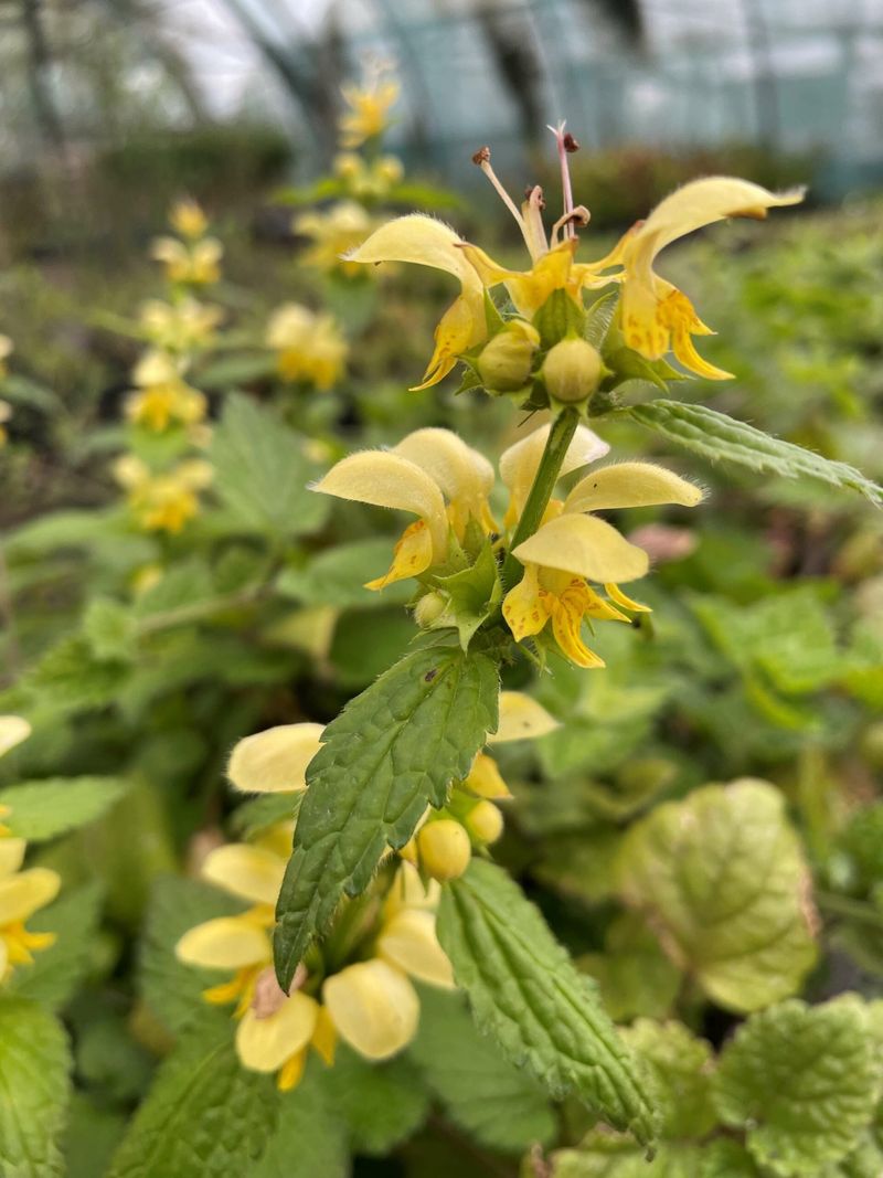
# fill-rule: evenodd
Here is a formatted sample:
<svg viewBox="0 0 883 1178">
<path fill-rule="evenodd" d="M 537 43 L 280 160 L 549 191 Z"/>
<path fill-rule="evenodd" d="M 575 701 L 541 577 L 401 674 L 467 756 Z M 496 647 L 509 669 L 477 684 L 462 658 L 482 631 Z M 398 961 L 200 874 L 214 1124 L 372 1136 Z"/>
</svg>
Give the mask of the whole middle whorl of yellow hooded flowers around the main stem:
<svg viewBox="0 0 883 1178">
<path fill-rule="evenodd" d="M 520 518 L 549 437 L 545 425 L 510 446 L 500 458 L 500 475 L 509 491 L 504 527 Z M 577 428 L 560 475 L 605 455 L 609 446 L 584 425 Z M 325 495 L 417 516 L 396 544 L 389 570 L 367 589 L 383 589 L 406 577 L 419 578 L 437 594 L 433 575 L 450 568 L 451 544 L 463 543 L 467 527 L 498 537 L 489 508 L 494 484 L 487 459 L 456 434 L 423 429 L 392 450 L 366 450 L 341 459 L 314 487 Z M 539 635 L 551 623 L 563 654 L 579 667 L 603 667 L 602 659 L 582 638 L 583 621 L 631 621 L 646 607 L 626 597 L 622 582 L 646 574 L 646 552 L 629 543 L 592 512 L 616 508 L 673 503 L 695 507 L 702 490 L 692 483 L 643 462 L 603 466 L 579 479 L 564 499 L 552 499 L 539 529 L 513 549 L 524 576 L 503 601 L 503 617 L 517 642 Z M 496 540 L 494 543 L 503 541 Z M 606 596 L 592 588 L 602 585 Z M 418 605 L 418 620 L 420 609 Z"/>
</svg>

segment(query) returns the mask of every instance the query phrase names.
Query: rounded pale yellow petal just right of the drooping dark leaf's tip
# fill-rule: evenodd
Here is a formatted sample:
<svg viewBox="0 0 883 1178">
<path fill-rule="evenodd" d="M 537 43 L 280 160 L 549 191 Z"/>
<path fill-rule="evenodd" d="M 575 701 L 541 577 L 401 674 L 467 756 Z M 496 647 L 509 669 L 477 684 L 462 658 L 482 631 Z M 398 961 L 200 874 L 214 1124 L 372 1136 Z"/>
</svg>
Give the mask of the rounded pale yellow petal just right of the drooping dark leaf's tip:
<svg viewBox="0 0 883 1178">
<path fill-rule="evenodd" d="M 366 1059 L 389 1059 L 417 1033 L 414 987 L 400 969 L 377 958 L 328 978 L 323 998 L 340 1037 Z"/>
</svg>

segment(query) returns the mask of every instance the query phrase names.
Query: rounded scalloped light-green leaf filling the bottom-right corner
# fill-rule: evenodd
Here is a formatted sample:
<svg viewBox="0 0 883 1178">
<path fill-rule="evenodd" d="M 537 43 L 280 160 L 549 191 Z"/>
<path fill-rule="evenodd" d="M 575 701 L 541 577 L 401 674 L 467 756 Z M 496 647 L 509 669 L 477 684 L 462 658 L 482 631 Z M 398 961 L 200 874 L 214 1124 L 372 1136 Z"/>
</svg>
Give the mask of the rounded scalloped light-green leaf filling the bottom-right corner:
<svg viewBox="0 0 883 1178">
<path fill-rule="evenodd" d="M 722 1119 L 783 1178 L 841 1162 L 870 1125 L 879 1094 L 868 1008 L 848 994 L 797 999 L 752 1015 L 726 1044 L 715 1084 Z"/>
</svg>

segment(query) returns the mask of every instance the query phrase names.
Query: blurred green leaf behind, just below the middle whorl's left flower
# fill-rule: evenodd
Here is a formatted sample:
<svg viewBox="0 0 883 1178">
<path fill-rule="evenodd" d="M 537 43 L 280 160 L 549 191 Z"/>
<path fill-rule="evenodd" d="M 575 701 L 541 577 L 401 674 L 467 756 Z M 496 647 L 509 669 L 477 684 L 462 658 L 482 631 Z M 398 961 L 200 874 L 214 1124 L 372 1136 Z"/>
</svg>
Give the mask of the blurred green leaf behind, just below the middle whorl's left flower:
<svg viewBox="0 0 883 1178">
<path fill-rule="evenodd" d="M 285 597 L 294 597 L 306 605 L 404 604 L 413 596 L 413 587 L 406 581 L 396 581 L 383 594 L 371 594 L 365 589 L 377 569 L 390 563 L 392 540 L 379 537 L 356 540 L 350 544 L 328 548 L 310 560 L 304 568 L 288 568 L 279 574 L 277 590 Z"/>
</svg>

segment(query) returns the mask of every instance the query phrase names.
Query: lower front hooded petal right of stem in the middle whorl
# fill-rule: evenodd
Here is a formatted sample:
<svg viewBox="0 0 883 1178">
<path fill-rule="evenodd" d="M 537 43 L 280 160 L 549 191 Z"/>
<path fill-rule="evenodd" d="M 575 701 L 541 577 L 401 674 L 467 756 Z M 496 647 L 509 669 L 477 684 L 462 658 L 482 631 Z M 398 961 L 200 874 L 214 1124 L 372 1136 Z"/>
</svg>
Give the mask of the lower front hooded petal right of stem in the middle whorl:
<svg viewBox="0 0 883 1178">
<path fill-rule="evenodd" d="M 602 584 L 606 581 L 635 581 L 643 577 L 650 565 L 643 549 L 630 544 L 603 519 L 584 515 L 563 515 L 550 519 L 513 549 L 513 554 L 523 564 L 530 562 L 559 569 Z"/>
</svg>

